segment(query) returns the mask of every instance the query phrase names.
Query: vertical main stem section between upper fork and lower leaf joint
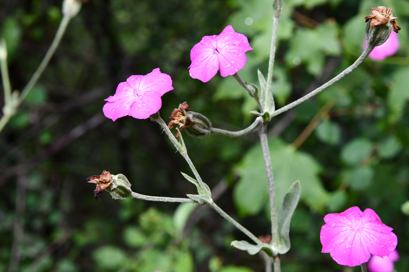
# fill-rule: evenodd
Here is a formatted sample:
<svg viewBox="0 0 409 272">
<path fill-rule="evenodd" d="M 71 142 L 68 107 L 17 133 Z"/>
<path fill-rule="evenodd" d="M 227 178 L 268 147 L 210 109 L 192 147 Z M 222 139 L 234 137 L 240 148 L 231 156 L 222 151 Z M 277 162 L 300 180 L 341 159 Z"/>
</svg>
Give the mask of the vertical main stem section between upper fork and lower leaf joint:
<svg viewBox="0 0 409 272">
<path fill-rule="evenodd" d="M 268 194 L 270 196 L 270 218 L 271 218 L 271 236 L 273 255 L 277 254 L 279 249 L 279 225 L 277 219 L 276 190 L 274 185 L 273 167 L 271 165 L 270 149 L 267 139 L 267 124 L 260 126 L 259 130 L 261 150 L 263 152 L 265 172 L 267 174 Z"/>
</svg>

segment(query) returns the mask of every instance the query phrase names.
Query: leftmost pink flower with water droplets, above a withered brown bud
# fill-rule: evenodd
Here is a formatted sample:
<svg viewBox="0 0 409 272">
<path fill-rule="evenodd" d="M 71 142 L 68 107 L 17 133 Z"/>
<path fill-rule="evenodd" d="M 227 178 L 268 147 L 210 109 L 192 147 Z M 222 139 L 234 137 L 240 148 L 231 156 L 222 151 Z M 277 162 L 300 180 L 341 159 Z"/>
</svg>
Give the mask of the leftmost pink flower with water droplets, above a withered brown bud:
<svg viewBox="0 0 409 272">
<path fill-rule="evenodd" d="M 146 119 L 160 109 L 160 97 L 170 90 L 172 79 L 159 68 L 145 76 L 130 76 L 119 83 L 115 95 L 105 99 L 108 102 L 102 108 L 103 114 L 112 121 L 126 115 Z"/>
</svg>

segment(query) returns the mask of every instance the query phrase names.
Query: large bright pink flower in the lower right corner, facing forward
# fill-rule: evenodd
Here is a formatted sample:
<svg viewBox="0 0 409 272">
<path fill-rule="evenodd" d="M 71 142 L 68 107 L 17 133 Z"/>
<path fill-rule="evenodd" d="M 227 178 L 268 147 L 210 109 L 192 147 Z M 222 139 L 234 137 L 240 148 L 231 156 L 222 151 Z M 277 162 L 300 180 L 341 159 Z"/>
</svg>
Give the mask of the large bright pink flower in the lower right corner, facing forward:
<svg viewBox="0 0 409 272">
<path fill-rule="evenodd" d="M 324 221 L 321 252 L 330 253 L 340 265 L 360 265 L 371 254 L 389 256 L 398 243 L 393 229 L 382 223 L 371 209 L 361 212 L 360 208 L 351 207 L 340 214 L 327 214 Z"/>
</svg>

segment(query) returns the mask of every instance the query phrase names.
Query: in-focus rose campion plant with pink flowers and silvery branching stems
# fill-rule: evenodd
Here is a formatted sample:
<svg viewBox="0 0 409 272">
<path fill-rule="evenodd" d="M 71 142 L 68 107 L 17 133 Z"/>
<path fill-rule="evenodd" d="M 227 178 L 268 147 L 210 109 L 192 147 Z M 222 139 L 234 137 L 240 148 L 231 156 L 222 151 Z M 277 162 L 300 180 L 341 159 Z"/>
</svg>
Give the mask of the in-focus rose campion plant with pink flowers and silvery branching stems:
<svg viewBox="0 0 409 272">
<path fill-rule="evenodd" d="M 197 194 L 187 194 L 187 198 L 138 194 L 130 189 L 131 184 L 126 176 L 123 174 L 112 175 L 106 171 L 98 176 L 90 176 L 88 182 L 97 184 L 97 188 L 94 191 L 96 199 L 99 199 L 103 190 L 107 190 L 115 199 L 132 197 L 150 201 L 190 202 L 209 205 L 251 240 L 251 243 L 249 241 L 232 241 L 232 246 L 249 254 L 260 253 L 265 261 L 266 271 L 271 271 L 271 266 L 273 266 L 274 271 L 279 272 L 281 270 L 280 255 L 290 250 L 290 221 L 300 198 L 301 183 L 295 181 L 288 188 L 283 203 L 279 203 L 280 208 L 277 209 L 275 181 L 272 172 L 270 149 L 267 142 L 267 124 L 274 116 L 303 103 L 346 76 L 346 74 L 351 73 L 353 69 L 369 56 L 376 46 L 380 46 L 388 40 L 391 31 L 398 33 L 400 27 L 397 25 L 396 18 L 393 17 L 391 9 L 387 7 L 373 7 L 371 15 L 362 18 L 367 21 L 366 36 L 362 37 L 362 39 L 365 38 L 366 40 L 366 47 L 362 55 L 350 67 L 324 85 L 280 109 L 275 109 L 271 86 L 281 1 L 273 0 L 273 8 L 273 30 L 267 78 L 258 71 L 258 84 L 247 84 L 238 76 L 237 71 L 246 64 L 245 54 L 247 51 L 252 50 L 252 47 L 250 47 L 247 37 L 234 31 L 231 25 L 226 26 L 219 35 L 204 36 L 200 42 L 193 46 L 190 54 L 191 65 L 188 67 L 189 71 L 186 71 L 189 72 L 192 78 L 199 79 L 202 82 L 209 81 L 219 70 L 220 75 L 223 77 L 234 76 L 238 84 L 242 85 L 249 95 L 256 100 L 259 107 L 259 111 L 251 112 L 257 117 L 249 127 L 236 132 L 214 128 L 206 116 L 194 112 L 186 101 L 180 103 L 178 107 L 175 107 L 169 113 L 171 121 L 167 125 L 160 117 L 159 109 L 162 106 L 162 96 L 172 90 L 173 87 L 170 76 L 161 73 L 159 68 L 153 69 L 151 73 L 144 76 L 130 76 L 125 82 L 119 83 L 113 96 L 105 99 L 107 103 L 103 106 L 103 113 L 113 121 L 124 116 L 132 116 L 138 119 L 149 117 L 162 127 L 163 132 L 169 136 L 171 143 L 173 143 L 191 168 L 194 177 L 184 173 L 182 175 L 187 181 L 197 187 Z M 362 24 L 364 24 L 363 20 Z M 146 73 L 146 71 L 137 71 L 137 73 Z M 179 125 L 176 128 L 176 136 L 170 131 L 174 125 Z M 263 156 L 264 159 L 269 187 L 271 236 L 256 236 L 214 203 L 209 186 L 202 180 L 189 158 L 187 146 L 181 134 L 182 129 L 190 136 L 219 134 L 237 137 L 258 132 L 262 147 L 260 156 Z M 280 181 L 277 182 L 279 183 Z M 398 243 L 392 228 L 382 223 L 379 216 L 371 209 L 366 209 L 362 212 L 358 207 L 351 207 L 340 214 L 327 214 L 324 217 L 324 221 L 326 224 L 322 227 L 320 235 L 322 252 L 330 253 L 331 257 L 340 265 L 361 265 L 362 271 L 366 271 L 365 263 L 370 259 L 371 254 L 380 258 L 388 257 L 394 252 Z M 392 258 L 391 260 L 395 259 Z M 390 262 L 393 265 L 393 261 Z"/>
</svg>

